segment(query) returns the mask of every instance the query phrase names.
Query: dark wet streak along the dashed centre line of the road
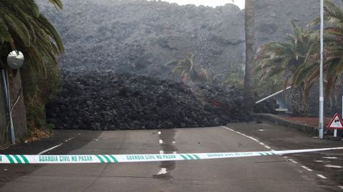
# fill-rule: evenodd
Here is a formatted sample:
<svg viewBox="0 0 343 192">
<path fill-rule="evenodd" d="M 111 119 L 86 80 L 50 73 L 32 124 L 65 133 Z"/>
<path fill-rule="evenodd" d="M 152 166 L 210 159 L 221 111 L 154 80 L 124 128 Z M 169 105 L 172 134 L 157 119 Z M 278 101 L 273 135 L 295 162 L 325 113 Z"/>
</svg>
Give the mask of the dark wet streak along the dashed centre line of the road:
<svg viewBox="0 0 343 192">
<path fill-rule="evenodd" d="M 173 154 L 177 152 L 177 147 L 174 145 L 174 137 L 177 131 L 175 129 L 164 129 L 159 135 L 159 139 L 163 141 L 161 146 L 161 151 L 164 151 L 164 154 Z M 176 168 L 175 161 L 162 161 L 159 165 L 159 168 L 165 169 L 165 174 L 156 174 L 153 177 L 159 180 L 170 180 L 173 178 L 172 171 Z"/>
</svg>

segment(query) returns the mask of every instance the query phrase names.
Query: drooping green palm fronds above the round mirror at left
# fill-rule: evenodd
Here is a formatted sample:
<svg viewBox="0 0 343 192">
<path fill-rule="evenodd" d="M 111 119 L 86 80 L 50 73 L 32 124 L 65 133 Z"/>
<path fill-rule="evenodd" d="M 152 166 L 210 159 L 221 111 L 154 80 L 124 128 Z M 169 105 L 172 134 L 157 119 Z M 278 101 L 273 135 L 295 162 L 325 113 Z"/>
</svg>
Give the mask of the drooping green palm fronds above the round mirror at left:
<svg viewBox="0 0 343 192">
<path fill-rule="evenodd" d="M 60 0 L 49 1 L 62 9 Z M 33 0 L 0 1 L 1 60 L 11 50 L 20 50 L 26 63 L 39 70 L 45 63 L 56 64 L 56 55 L 64 52 L 59 34 Z"/>
</svg>

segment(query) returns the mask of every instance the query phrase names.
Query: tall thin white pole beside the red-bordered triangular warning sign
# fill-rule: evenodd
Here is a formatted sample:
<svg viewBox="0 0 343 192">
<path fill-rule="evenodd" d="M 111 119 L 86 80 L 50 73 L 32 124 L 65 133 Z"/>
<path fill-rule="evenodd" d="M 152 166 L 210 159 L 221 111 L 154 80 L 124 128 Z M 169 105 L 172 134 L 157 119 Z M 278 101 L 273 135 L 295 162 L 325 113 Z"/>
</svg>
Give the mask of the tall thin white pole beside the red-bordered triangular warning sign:
<svg viewBox="0 0 343 192">
<path fill-rule="evenodd" d="M 319 78 L 319 139 L 324 138 L 324 85 L 323 85 L 323 52 L 324 52 L 324 0 L 320 0 L 320 78 Z"/>
</svg>

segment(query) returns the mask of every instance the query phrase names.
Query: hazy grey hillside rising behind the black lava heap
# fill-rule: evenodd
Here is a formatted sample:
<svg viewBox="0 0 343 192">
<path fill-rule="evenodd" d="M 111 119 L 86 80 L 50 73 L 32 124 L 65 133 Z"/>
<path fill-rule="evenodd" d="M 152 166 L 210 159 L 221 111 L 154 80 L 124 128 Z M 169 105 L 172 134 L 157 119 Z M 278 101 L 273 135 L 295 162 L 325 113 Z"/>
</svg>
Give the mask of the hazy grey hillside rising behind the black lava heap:
<svg viewBox="0 0 343 192">
<path fill-rule="evenodd" d="M 164 64 L 189 53 L 215 73 L 244 63 L 244 11 L 232 4 L 214 9 L 163 1 L 66 0 L 61 12 L 46 1 L 39 4 L 64 40 L 64 70 L 171 78 Z M 306 23 L 318 9 L 314 0 L 257 1 L 257 47 L 286 38 L 292 19 Z"/>
</svg>

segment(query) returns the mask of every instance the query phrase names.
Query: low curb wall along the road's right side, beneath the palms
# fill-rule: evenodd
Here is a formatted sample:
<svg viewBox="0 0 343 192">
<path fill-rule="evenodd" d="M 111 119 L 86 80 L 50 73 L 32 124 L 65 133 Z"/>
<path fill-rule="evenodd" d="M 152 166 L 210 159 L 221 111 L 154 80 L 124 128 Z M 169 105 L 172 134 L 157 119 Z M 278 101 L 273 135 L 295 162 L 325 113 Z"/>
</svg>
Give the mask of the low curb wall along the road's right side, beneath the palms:
<svg viewBox="0 0 343 192">
<path fill-rule="evenodd" d="M 268 120 L 269 122 L 273 122 L 274 124 L 282 125 L 284 127 L 297 129 L 299 132 L 304 132 L 311 135 L 317 135 L 318 129 L 317 127 L 313 127 L 308 124 L 296 123 L 291 122 L 285 119 L 278 117 L 275 114 L 267 114 L 267 113 L 255 113 L 252 114 L 252 117 Z"/>
</svg>

